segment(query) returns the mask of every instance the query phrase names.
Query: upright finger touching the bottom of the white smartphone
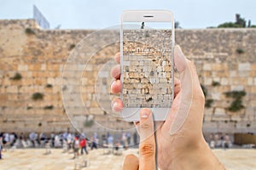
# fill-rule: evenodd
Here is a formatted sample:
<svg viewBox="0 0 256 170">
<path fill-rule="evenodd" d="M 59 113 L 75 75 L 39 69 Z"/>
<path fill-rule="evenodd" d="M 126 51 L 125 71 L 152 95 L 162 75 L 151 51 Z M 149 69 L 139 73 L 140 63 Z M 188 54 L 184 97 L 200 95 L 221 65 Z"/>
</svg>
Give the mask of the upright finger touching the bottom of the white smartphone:
<svg viewBox="0 0 256 170">
<path fill-rule="evenodd" d="M 153 115 L 149 109 L 143 109 L 140 113 L 140 169 L 155 169 L 155 141 Z"/>
</svg>

